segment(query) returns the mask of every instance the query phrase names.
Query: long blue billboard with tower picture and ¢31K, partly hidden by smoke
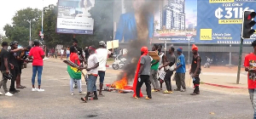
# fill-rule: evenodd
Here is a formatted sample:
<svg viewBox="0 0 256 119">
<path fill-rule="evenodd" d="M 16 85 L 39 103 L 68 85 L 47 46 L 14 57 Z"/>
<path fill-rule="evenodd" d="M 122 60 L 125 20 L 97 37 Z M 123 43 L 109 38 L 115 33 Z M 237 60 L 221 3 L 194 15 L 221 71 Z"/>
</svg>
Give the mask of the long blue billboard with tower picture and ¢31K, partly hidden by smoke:
<svg viewBox="0 0 256 119">
<path fill-rule="evenodd" d="M 127 7 L 127 1 L 131 6 Z M 144 1 L 144 0 L 141 0 Z M 126 3 L 125 3 L 126 2 Z M 243 10 L 256 10 L 256 0 L 160 0 L 154 14 L 148 16 L 148 41 L 152 43 L 238 44 Z M 115 39 L 137 39 L 137 19 L 127 8 L 137 8 L 137 0 L 121 0 L 115 12 Z M 142 3 L 142 2 L 141 2 Z M 144 2 L 146 3 L 146 2 Z M 119 11 L 122 11 L 121 13 Z M 256 34 L 250 43 L 256 40 Z"/>
</svg>

